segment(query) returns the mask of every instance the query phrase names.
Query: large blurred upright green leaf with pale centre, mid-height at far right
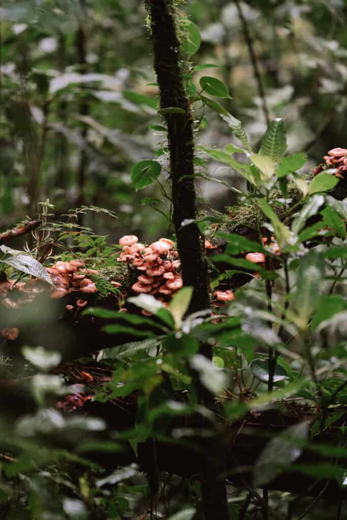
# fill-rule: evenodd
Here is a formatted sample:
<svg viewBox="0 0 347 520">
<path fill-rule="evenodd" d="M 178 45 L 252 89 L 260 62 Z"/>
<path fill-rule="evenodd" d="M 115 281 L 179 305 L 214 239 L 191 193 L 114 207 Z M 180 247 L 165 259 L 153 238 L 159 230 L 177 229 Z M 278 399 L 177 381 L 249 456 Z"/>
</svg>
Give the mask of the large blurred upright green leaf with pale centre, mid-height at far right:
<svg viewBox="0 0 347 520">
<path fill-rule="evenodd" d="M 294 306 L 305 327 L 319 303 L 321 285 L 325 276 L 324 255 L 310 251 L 301 260 L 297 274 Z"/>
</svg>

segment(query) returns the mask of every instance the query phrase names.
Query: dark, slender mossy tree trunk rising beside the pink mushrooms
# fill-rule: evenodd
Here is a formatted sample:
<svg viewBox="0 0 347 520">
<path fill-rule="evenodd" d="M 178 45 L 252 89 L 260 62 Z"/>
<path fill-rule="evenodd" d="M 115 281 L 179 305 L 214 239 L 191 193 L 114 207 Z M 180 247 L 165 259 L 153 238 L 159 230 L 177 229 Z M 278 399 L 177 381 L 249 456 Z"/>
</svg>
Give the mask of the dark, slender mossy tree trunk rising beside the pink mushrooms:
<svg viewBox="0 0 347 520">
<path fill-rule="evenodd" d="M 170 173 L 173 199 L 173 224 L 182 265 L 183 283 L 194 289 L 189 311 L 209 308 L 207 263 L 202 252 L 200 232 L 195 223 L 182 226 L 184 220 L 196 219 L 194 179 L 193 118 L 183 85 L 179 61 L 179 41 L 175 28 L 174 9 L 170 0 L 145 0 L 150 16 L 154 49 L 154 66 L 160 89 L 162 109 L 179 108 L 182 113 L 165 113 L 168 125 Z M 201 345 L 200 352 L 212 358 L 210 345 Z M 213 396 L 197 385 L 200 402 L 210 409 Z M 215 464 L 204 464 L 200 472 L 205 520 L 228 520 L 224 470 L 224 454 L 218 438 L 203 448 L 213 454 Z"/>
</svg>

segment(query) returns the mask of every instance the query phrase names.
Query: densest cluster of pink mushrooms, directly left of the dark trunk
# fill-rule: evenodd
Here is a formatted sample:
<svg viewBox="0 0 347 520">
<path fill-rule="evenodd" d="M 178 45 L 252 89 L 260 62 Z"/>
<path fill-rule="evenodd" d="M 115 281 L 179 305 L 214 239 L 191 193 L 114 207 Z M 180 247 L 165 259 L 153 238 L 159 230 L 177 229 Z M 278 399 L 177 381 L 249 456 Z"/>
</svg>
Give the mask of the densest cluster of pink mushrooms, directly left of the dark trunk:
<svg viewBox="0 0 347 520">
<path fill-rule="evenodd" d="M 120 238 L 119 243 L 123 247 L 118 262 L 126 262 L 140 271 L 132 290 L 138 294 L 151 294 L 168 303 L 183 286 L 182 277 L 177 272 L 181 264 L 173 241 L 161 238 L 146 246 L 139 243 L 135 235 L 126 235 Z"/>
</svg>

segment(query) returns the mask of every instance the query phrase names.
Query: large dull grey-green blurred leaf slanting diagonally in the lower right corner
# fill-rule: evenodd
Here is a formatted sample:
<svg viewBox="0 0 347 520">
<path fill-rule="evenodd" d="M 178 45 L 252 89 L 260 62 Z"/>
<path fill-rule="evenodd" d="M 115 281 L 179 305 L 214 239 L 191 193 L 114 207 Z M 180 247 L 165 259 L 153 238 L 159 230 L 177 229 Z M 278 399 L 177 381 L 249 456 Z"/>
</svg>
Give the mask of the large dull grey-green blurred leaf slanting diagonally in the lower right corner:
<svg viewBox="0 0 347 520">
<path fill-rule="evenodd" d="M 253 471 L 253 486 L 260 487 L 268 484 L 292 462 L 299 459 L 302 448 L 298 441 L 309 436 L 309 424 L 301 422 L 294 424 L 274 437 L 265 446 L 255 463 Z"/>
</svg>

